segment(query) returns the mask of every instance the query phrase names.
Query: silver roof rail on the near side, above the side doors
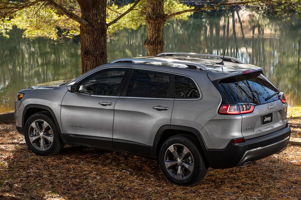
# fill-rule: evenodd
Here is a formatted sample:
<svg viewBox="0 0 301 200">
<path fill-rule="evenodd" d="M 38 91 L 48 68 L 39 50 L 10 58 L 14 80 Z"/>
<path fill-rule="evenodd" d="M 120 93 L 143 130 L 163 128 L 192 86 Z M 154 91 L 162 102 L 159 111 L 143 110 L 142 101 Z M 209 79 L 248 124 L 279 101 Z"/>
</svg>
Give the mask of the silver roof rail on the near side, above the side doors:
<svg viewBox="0 0 301 200">
<path fill-rule="evenodd" d="M 111 63 L 116 63 L 116 62 L 132 62 L 132 63 L 141 62 L 141 64 L 145 64 L 145 62 L 174 63 L 174 64 L 186 65 L 187 66 L 186 68 L 201 69 L 204 71 L 209 70 L 206 66 L 204 66 L 202 64 L 198 64 L 195 62 L 182 62 L 182 61 L 174 61 L 174 60 L 147 59 L 147 58 L 121 58 L 121 59 L 115 59 L 115 60 L 111 61 Z"/>
</svg>

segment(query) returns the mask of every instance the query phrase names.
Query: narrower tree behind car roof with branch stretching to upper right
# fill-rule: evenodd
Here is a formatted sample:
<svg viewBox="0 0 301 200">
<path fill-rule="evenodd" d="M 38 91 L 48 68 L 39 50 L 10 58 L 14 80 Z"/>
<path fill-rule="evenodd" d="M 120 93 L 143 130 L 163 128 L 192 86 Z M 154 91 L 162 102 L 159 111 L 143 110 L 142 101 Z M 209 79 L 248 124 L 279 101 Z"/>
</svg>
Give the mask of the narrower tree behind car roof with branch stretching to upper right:
<svg viewBox="0 0 301 200">
<path fill-rule="evenodd" d="M 171 2 L 172 3 L 172 2 Z M 164 51 L 164 26 L 168 19 L 193 12 L 219 10 L 225 6 L 250 5 L 261 10 L 272 10 L 281 18 L 287 18 L 291 11 L 301 12 L 298 0 L 240 0 L 221 1 L 207 0 L 201 7 L 182 6 L 177 10 L 167 10 L 171 5 L 166 0 L 147 0 L 146 3 L 146 39 L 144 46 L 148 56 L 154 56 Z"/>
</svg>

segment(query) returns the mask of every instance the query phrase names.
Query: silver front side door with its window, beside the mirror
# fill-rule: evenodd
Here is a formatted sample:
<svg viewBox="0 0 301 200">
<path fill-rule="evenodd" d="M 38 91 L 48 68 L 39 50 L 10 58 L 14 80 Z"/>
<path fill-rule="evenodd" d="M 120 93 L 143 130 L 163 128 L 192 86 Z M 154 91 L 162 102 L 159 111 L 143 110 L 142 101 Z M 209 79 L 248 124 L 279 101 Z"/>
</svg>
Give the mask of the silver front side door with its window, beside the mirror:
<svg viewBox="0 0 301 200">
<path fill-rule="evenodd" d="M 100 69 L 77 82 L 62 101 L 61 123 L 69 142 L 112 148 L 114 106 L 129 68 Z"/>
</svg>

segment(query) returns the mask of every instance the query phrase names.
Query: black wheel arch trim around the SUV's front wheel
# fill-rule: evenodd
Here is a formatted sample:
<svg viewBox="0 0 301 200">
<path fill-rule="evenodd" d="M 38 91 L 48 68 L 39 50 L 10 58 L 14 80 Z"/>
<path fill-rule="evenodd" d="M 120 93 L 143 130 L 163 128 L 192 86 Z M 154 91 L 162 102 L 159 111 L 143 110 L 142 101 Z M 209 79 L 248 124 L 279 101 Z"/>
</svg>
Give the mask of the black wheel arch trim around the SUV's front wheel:
<svg viewBox="0 0 301 200">
<path fill-rule="evenodd" d="M 34 113 L 37 113 L 37 112 L 40 112 L 40 111 L 47 111 L 48 112 L 48 114 L 52 117 L 55 125 L 57 126 L 57 129 L 59 131 L 59 135 L 60 135 L 61 139 L 63 141 L 65 141 L 64 136 L 63 136 L 62 131 L 61 131 L 61 127 L 58 123 L 58 120 L 57 120 L 53 110 L 50 107 L 46 106 L 46 105 L 28 104 L 28 105 L 25 106 L 24 111 L 23 111 L 23 115 L 22 115 L 23 130 L 25 131 L 25 124 L 26 124 L 27 120 L 29 119 L 29 117 L 31 115 L 33 115 Z"/>
</svg>

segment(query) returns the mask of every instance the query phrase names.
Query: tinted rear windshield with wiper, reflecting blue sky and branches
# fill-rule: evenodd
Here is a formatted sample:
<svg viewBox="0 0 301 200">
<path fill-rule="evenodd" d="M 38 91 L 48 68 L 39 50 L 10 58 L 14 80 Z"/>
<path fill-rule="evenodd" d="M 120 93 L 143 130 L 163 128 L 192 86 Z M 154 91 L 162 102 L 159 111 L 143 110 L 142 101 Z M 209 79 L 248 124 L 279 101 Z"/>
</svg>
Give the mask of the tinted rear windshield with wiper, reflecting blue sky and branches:
<svg viewBox="0 0 301 200">
<path fill-rule="evenodd" d="M 218 90 L 224 103 L 250 102 L 258 105 L 279 99 L 277 94 L 266 99 L 278 92 L 278 89 L 258 73 L 222 79 L 218 84 Z"/>
</svg>

